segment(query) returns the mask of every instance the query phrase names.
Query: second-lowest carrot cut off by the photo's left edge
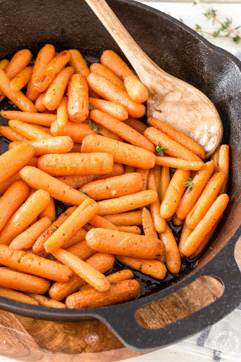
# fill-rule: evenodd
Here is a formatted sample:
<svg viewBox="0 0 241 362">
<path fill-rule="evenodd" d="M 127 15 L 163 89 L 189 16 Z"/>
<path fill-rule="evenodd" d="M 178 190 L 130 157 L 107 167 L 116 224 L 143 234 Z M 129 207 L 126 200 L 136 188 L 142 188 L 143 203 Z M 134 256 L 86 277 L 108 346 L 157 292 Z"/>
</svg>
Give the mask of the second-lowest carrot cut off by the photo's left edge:
<svg viewBox="0 0 241 362">
<path fill-rule="evenodd" d="M 0 268 L 0 286 L 22 292 L 44 294 L 50 287 L 50 282 L 46 279 L 35 277 L 8 268 Z"/>
</svg>

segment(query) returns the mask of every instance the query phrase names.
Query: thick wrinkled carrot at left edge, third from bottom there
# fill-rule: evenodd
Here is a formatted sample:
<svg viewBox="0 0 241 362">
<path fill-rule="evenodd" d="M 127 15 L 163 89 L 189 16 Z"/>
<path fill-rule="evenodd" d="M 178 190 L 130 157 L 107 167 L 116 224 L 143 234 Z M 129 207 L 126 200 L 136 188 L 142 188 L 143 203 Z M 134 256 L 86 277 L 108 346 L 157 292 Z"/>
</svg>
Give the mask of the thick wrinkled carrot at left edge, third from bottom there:
<svg viewBox="0 0 241 362">
<path fill-rule="evenodd" d="M 0 245 L 0 262 L 9 268 L 48 278 L 57 282 L 67 282 L 73 271 L 68 266 L 47 260 L 22 250 L 12 250 Z"/>
</svg>

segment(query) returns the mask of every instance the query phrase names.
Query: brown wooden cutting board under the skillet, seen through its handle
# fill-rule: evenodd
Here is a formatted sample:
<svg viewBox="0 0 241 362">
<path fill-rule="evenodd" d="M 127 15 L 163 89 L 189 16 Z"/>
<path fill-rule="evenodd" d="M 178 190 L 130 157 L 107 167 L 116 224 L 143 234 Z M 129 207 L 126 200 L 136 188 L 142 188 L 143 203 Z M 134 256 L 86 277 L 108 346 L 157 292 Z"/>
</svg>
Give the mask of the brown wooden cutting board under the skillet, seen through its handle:
<svg viewBox="0 0 241 362">
<path fill-rule="evenodd" d="M 241 239 L 235 255 L 241 269 Z M 202 277 L 177 293 L 141 308 L 137 320 L 145 328 L 160 328 L 215 302 L 222 292 L 220 282 Z M 124 347 L 98 320 L 51 322 L 0 311 L 0 355 L 25 362 L 114 362 L 140 354 Z"/>
</svg>

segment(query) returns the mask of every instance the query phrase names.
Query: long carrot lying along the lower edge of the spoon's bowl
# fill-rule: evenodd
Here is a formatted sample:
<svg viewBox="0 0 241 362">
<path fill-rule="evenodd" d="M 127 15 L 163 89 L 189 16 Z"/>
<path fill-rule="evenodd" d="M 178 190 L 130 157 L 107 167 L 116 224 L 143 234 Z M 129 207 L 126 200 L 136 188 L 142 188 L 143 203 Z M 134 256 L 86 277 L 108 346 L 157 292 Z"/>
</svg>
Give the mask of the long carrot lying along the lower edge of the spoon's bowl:
<svg viewBox="0 0 241 362">
<path fill-rule="evenodd" d="M 205 152 L 201 146 L 193 139 L 185 135 L 184 133 L 176 130 L 174 127 L 170 126 L 168 123 L 160 121 L 159 119 L 148 117 L 147 123 L 162 131 L 167 136 L 169 136 L 174 141 L 180 143 L 182 146 L 187 148 L 189 151 L 193 152 L 195 155 L 200 157 L 202 160 L 205 160 Z M 164 146 L 163 146 L 164 147 Z"/>
</svg>

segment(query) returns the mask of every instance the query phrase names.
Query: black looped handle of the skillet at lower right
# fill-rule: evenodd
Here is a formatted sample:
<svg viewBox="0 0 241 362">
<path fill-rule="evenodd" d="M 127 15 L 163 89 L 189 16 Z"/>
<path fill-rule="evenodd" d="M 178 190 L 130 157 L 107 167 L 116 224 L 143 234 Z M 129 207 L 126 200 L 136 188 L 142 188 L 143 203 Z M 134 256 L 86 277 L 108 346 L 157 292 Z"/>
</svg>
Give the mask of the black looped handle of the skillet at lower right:
<svg viewBox="0 0 241 362">
<path fill-rule="evenodd" d="M 233 254 L 234 246 L 235 243 L 232 248 L 229 242 L 228 247 L 226 245 L 204 268 L 195 273 L 193 280 L 202 275 L 209 275 L 223 283 L 223 295 L 209 306 L 163 328 L 150 330 L 141 327 L 135 319 L 138 308 L 146 305 L 146 303 L 141 303 L 142 299 L 138 299 L 113 306 L 111 313 L 102 315 L 104 323 L 130 349 L 137 352 L 151 352 L 187 338 L 218 322 L 241 302 L 241 274 Z M 136 302 L 139 302 L 139 305 Z"/>
</svg>

